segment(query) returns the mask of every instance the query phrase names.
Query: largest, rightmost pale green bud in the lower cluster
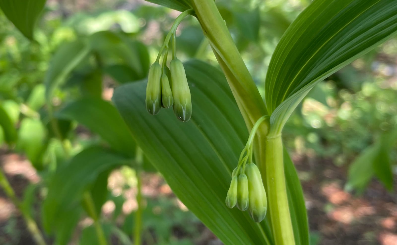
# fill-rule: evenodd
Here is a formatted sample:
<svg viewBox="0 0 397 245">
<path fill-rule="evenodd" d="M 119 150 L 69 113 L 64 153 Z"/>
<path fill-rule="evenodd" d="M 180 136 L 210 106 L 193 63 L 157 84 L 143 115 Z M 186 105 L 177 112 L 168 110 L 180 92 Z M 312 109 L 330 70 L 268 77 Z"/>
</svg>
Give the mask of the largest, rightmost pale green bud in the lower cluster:
<svg viewBox="0 0 397 245">
<path fill-rule="evenodd" d="M 254 163 L 245 166 L 245 174 L 247 174 L 248 178 L 249 211 L 255 222 L 261 222 L 265 218 L 268 208 L 262 177 Z"/>
</svg>

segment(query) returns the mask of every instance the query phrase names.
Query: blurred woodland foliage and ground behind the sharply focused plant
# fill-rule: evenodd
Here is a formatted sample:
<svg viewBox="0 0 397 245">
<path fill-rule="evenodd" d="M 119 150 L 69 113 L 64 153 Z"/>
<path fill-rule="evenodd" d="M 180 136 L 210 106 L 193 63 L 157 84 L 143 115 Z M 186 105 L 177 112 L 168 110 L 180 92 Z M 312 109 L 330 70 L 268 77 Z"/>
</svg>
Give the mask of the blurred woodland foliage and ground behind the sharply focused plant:
<svg viewBox="0 0 397 245">
<path fill-rule="evenodd" d="M 278 40 L 309 3 L 217 1 L 261 94 Z M 50 243 L 96 244 L 95 215 L 79 205 L 87 191 L 112 244 L 131 243 L 141 186 L 144 244 L 221 244 L 145 158 L 131 161 L 135 142 L 110 102 L 146 77 L 177 15 L 141 0 L 48 0 L 30 41 L 0 13 L 1 166 Z M 193 17 L 177 35 L 181 59 L 217 66 Z M 288 121 L 313 244 L 396 244 L 396 98 L 394 38 L 316 86 Z M 108 161 L 98 169 L 95 157 Z M 0 243 L 33 244 L 2 192 L 0 210 Z"/>
</svg>

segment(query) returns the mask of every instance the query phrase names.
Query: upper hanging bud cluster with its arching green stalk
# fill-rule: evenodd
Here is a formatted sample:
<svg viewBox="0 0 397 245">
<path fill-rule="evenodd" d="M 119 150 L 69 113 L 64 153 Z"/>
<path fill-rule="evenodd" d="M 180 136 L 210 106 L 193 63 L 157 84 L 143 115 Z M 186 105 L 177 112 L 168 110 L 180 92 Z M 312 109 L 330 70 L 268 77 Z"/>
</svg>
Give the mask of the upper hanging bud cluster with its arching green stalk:
<svg viewBox="0 0 397 245">
<path fill-rule="evenodd" d="M 176 57 L 176 28 L 182 19 L 193 10 L 186 10 L 175 19 L 166 40 L 160 49 L 156 62 L 149 69 L 148 83 L 146 86 L 146 110 L 156 115 L 161 107 L 173 107 L 177 118 L 183 122 L 189 121 L 192 115 L 192 101 L 189 84 L 187 83 L 183 63 Z M 167 67 L 168 44 L 172 38 L 172 61 Z M 162 54 L 163 62 L 159 60 Z"/>
</svg>

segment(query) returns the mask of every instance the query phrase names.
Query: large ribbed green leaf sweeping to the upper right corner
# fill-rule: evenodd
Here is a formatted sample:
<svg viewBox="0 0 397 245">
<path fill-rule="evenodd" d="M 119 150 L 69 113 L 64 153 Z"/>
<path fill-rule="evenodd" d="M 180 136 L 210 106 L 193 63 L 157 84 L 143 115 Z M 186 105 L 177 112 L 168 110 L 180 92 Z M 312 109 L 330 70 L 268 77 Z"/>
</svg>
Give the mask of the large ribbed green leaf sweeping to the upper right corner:
<svg viewBox="0 0 397 245">
<path fill-rule="evenodd" d="M 397 31 L 392 0 L 315 0 L 287 29 L 265 83 L 272 132 L 317 82 L 369 52 Z"/>
</svg>

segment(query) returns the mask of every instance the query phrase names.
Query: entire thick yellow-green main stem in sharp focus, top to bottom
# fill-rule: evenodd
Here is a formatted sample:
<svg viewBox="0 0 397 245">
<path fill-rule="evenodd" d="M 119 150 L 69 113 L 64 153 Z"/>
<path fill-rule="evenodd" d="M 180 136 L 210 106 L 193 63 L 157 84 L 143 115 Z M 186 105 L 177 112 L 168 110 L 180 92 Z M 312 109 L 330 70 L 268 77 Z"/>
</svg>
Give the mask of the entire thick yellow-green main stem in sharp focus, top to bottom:
<svg viewBox="0 0 397 245">
<path fill-rule="evenodd" d="M 213 0 L 191 0 L 198 21 L 243 115 L 248 130 L 263 115 L 266 105 Z M 291 217 L 285 188 L 281 136 L 267 140 L 270 123 L 263 123 L 256 133 L 254 153 L 268 191 L 270 218 L 277 245 L 294 245 Z M 266 154 L 267 152 L 267 154 Z M 269 218 L 268 218 L 269 220 Z"/>
</svg>

